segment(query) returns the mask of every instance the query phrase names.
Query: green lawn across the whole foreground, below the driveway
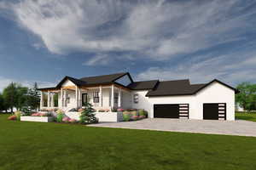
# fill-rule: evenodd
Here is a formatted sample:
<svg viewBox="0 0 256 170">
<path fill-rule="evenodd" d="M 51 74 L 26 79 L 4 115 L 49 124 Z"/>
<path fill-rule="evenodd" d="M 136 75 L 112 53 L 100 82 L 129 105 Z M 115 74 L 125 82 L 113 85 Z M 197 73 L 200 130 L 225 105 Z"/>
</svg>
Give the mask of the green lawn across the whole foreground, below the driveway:
<svg viewBox="0 0 256 170">
<path fill-rule="evenodd" d="M 0 115 L 0 169 L 256 169 L 256 138 L 75 124 Z"/>
</svg>

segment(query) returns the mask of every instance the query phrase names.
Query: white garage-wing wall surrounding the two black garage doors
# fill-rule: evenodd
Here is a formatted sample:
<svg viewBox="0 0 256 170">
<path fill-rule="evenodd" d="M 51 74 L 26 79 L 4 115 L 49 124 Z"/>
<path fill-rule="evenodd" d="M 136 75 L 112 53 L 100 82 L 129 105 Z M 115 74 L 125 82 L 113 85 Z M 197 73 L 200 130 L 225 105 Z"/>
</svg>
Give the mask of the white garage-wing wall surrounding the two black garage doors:
<svg viewBox="0 0 256 170">
<path fill-rule="evenodd" d="M 204 103 L 226 103 L 227 120 L 235 120 L 235 92 L 224 85 L 213 82 L 195 95 L 150 97 L 150 117 L 154 117 L 156 104 L 189 104 L 189 119 L 203 119 Z"/>
</svg>

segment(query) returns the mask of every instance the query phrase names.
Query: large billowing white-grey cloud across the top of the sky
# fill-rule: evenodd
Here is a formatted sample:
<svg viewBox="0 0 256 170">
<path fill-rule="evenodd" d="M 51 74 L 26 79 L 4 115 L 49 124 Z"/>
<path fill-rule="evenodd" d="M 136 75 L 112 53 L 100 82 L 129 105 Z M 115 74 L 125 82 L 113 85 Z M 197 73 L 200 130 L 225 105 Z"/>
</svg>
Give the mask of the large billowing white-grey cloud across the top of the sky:
<svg viewBox="0 0 256 170">
<path fill-rule="evenodd" d="M 41 37 L 52 53 L 133 51 L 151 59 L 241 40 L 245 28 L 255 31 L 247 19 L 256 11 L 244 8 L 239 0 L 24 0 L 12 5 L 20 26 Z"/>
</svg>

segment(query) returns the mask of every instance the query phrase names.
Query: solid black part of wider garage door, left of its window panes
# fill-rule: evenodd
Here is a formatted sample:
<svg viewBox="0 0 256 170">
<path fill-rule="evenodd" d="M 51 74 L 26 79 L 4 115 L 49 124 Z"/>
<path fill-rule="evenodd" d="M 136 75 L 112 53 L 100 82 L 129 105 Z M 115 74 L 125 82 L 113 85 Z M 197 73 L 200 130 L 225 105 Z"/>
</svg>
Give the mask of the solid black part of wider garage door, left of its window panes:
<svg viewBox="0 0 256 170">
<path fill-rule="evenodd" d="M 154 117 L 178 118 L 179 105 L 154 105 Z"/>
</svg>

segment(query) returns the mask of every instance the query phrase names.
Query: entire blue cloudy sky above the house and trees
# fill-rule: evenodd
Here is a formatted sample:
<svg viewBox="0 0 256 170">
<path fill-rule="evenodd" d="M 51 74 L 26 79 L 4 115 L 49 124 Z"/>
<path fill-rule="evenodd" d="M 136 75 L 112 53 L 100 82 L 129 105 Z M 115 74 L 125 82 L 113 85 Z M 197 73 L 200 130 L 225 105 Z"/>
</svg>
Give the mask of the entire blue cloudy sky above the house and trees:
<svg viewBox="0 0 256 170">
<path fill-rule="evenodd" d="M 0 0 L 0 91 L 129 71 L 256 82 L 255 0 Z"/>
</svg>

